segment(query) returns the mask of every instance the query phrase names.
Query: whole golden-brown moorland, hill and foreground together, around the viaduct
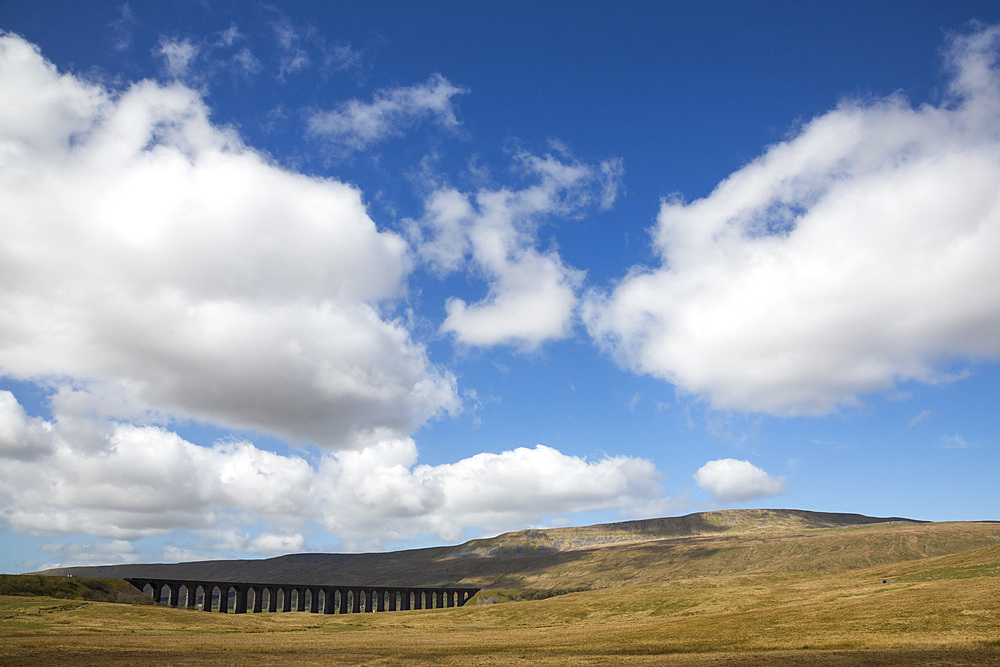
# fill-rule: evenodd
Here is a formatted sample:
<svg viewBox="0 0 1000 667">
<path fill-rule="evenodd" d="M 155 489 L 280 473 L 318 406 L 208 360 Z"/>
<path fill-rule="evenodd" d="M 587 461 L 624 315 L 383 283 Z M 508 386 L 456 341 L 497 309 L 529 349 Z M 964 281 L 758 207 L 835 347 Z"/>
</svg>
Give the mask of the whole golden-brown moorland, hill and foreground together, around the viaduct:
<svg viewBox="0 0 1000 667">
<path fill-rule="evenodd" d="M 25 583 L 0 587 L 4 664 L 1000 663 L 995 522 L 730 510 L 389 554 L 108 567 L 23 581 L 197 573 L 483 590 L 455 609 L 232 615 Z"/>
</svg>

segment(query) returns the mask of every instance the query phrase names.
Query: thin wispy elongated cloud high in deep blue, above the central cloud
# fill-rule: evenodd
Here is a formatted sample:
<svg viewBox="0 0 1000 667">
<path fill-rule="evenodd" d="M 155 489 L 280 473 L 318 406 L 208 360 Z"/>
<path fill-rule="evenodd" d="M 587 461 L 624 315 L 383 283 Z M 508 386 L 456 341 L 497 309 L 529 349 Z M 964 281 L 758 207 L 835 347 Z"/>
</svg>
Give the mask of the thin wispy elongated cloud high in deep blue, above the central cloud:
<svg viewBox="0 0 1000 667">
<path fill-rule="evenodd" d="M 379 90 L 370 103 L 350 100 L 333 111 L 317 112 L 309 118 L 309 133 L 360 150 L 398 136 L 422 120 L 456 127 L 458 120 L 451 98 L 466 92 L 435 74 L 426 83 Z"/>
</svg>

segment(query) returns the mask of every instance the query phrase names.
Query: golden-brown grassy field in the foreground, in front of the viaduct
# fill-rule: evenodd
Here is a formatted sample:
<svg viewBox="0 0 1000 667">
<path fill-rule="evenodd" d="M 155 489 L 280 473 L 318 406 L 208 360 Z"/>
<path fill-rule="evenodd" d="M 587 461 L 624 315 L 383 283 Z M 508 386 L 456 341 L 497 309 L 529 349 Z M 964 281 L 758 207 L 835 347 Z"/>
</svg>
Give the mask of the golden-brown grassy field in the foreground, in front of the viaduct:
<svg viewBox="0 0 1000 667">
<path fill-rule="evenodd" d="M 1000 546 L 832 574 L 699 576 L 387 614 L 0 597 L 0 646 L 11 665 L 997 664 Z"/>
</svg>

